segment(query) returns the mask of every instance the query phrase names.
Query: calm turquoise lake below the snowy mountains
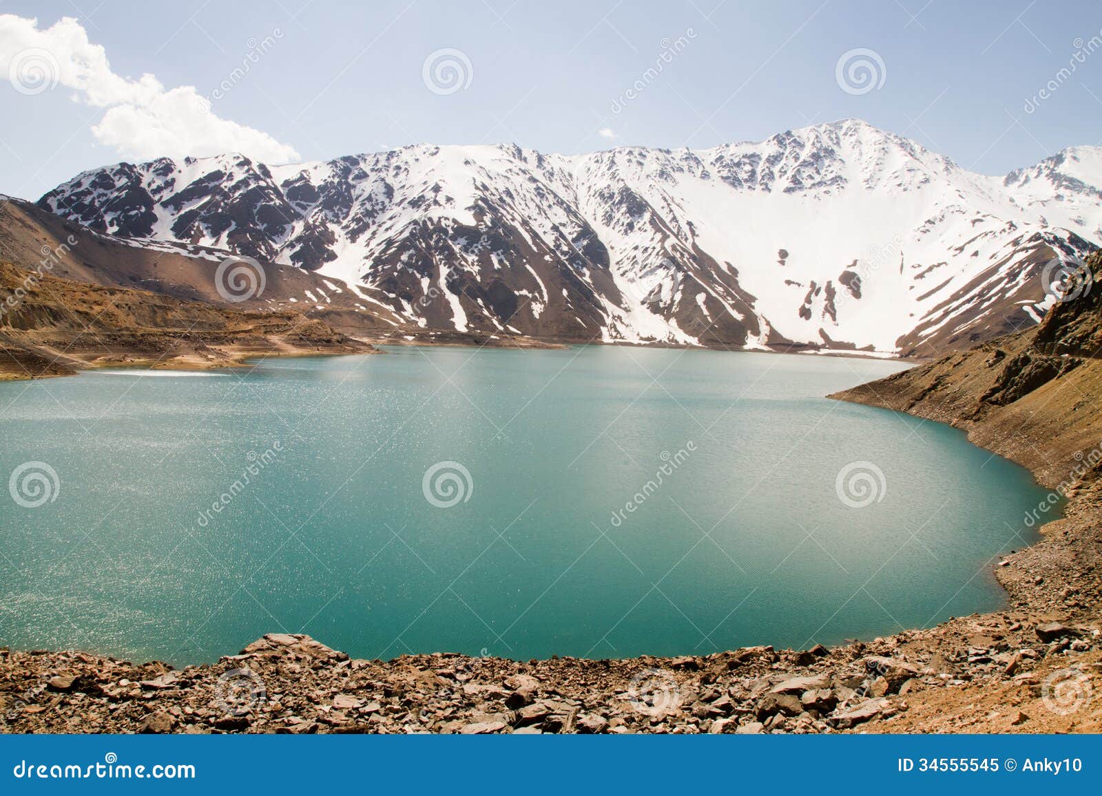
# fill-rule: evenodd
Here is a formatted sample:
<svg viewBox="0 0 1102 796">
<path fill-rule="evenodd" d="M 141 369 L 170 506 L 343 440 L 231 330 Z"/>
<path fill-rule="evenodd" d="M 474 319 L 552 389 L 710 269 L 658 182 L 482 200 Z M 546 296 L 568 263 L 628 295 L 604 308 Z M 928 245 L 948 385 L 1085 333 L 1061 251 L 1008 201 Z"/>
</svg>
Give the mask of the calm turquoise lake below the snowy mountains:
<svg viewBox="0 0 1102 796">
<path fill-rule="evenodd" d="M 994 609 L 1046 492 L 961 432 L 823 397 L 901 368 L 396 347 L 3 383 L 0 476 L 56 480 L 0 492 L 0 644 L 624 657 Z"/>
</svg>

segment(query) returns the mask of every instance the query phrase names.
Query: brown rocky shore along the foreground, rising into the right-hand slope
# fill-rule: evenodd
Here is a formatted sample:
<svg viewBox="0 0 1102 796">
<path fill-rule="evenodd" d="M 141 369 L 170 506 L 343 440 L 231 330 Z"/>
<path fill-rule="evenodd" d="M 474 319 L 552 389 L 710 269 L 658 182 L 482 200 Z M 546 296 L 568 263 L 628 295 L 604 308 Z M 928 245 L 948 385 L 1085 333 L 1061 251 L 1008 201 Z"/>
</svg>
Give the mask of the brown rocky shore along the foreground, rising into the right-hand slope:
<svg viewBox="0 0 1102 796">
<path fill-rule="evenodd" d="M 1091 266 L 1102 277 L 1102 258 Z M 996 564 L 1008 592 L 1002 611 L 831 650 L 759 646 L 681 658 L 358 661 L 284 634 L 182 670 L 79 652 L 2 651 L 2 728 L 1100 732 L 1100 307 L 1095 287 L 1029 331 L 835 396 L 952 423 L 1068 499 L 1066 516 L 1045 525 L 1039 543 Z M 1047 506 L 1035 522 L 1055 515 Z"/>
</svg>

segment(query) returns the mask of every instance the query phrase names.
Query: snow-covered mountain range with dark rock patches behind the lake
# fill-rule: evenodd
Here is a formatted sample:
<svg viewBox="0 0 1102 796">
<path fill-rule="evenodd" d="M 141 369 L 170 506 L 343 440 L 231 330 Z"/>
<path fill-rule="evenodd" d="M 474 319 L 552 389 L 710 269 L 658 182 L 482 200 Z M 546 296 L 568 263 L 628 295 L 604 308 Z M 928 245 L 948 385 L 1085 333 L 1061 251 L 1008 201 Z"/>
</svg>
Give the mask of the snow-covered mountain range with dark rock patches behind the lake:
<svg viewBox="0 0 1102 796">
<path fill-rule="evenodd" d="M 850 119 L 700 151 L 161 159 L 39 204 L 318 271 L 422 327 L 933 353 L 1038 320 L 1054 260 L 1102 243 L 1102 149 L 991 177 Z"/>
</svg>

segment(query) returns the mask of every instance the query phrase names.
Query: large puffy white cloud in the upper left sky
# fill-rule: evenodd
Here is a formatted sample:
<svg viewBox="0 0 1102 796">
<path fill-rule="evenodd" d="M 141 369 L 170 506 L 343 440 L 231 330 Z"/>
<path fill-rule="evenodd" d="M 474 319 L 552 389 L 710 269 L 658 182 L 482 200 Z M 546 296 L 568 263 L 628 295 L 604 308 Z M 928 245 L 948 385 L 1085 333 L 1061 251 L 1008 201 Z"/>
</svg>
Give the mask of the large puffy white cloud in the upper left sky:
<svg viewBox="0 0 1102 796">
<path fill-rule="evenodd" d="M 39 30 L 35 19 L 0 14 L 0 76 L 21 94 L 41 94 L 61 84 L 74 90 L 77 101 L 106 108 L 91 133 L 123 157 L 223 152 L 269 163 L 300 157 L 293 146 L 268 133 L 215 115 L 194 86 L 165 89 L 153 75 L 137 80 L 116 75 L 107 51 L 89 42 L 72 18 Z"/>
</svg>

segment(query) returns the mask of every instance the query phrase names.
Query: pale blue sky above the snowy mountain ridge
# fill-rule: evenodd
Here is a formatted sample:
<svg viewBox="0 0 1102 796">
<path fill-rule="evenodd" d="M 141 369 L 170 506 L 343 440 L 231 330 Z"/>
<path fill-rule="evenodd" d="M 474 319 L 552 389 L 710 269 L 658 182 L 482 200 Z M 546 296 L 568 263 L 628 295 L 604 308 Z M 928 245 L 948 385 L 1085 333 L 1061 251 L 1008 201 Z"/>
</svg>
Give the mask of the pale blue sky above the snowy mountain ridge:
<svg viewBox="0 0 1102 796">
<path fill-rule="evenodd" d="M 1096 1 L 39 0 L 6 2 L 0 13 L 37 18 L 36 31 L 75 18 L 119 83 L 110 97 L 89 99 L 89 79 L 106 85 L 100 73 L 67 79 L 71 53 L 54 52 L 63 47 L 50 40 L 47 69 L 61 69 L 61 79 L 17 90 L 8 67 L 32 40 L 17 32 L 6 45 L 9 50 L 0 52 L 0 192 L 31 198 L 158 146 L 226 142 L 303 160 L 419 142 L 576 153 L 706 148 L 858 117 L 1002 174 L 1102 139 L 1102 50 L 1057 77 L 1102 37 Z M 36 57 L 41 48 L 32 47 Z M 865 92 L 836 78 L 854 50 L 878 57 Z M 458 66 L 456 90 L 443 77 L 430 86 L 431 65 L 426 81 L 437 51 Z M 247 73 L 235 76 L 250 53 Z M 191 130 L 190 111 L 176 107 L 187 92 L 145 115 L 151 97 L 163 97 L 137 88 L 143 74 L 161 91 L 195 87 L 220 127 Z M 1057 88 L 1027 112 L 1050 80 Z"/>
</svg>

